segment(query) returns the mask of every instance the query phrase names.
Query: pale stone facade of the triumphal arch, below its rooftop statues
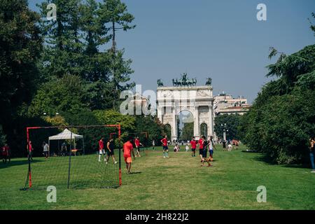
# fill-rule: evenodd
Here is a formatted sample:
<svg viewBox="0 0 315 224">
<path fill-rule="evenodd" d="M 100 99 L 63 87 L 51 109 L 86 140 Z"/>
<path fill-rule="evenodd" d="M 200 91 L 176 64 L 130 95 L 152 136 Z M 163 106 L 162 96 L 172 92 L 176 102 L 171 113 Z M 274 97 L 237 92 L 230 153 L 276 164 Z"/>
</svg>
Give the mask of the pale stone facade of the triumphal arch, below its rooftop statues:
<svg viewBox="0 0 315 224">
<path fill-rule="evenodd" d="M 158 87 L 158 118 L 172 127 L 172 140 L 177 137 L 177 116 L 190 111 L 194 117 L 194 136 L 200 138 L 200 125 L 207 124 L 208 138 L 214 136 L 214 97 L 211 86 Z"/>
</svg>

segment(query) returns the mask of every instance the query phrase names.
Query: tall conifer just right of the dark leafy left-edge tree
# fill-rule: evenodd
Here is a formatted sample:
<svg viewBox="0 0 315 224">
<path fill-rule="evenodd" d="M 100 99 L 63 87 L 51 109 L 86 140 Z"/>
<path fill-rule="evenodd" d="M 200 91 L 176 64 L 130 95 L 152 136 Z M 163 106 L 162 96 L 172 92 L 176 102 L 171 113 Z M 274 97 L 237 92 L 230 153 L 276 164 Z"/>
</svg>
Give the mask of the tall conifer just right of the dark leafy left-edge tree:
<svg viewBox="0 0 315 224">
<path fill-rule="evenodd" d="M 47 6 L 55 3 L 57 19 L 47 20 Z M 80 32 L 80 0 L 46 0 L 41 3 L 43 18 L 41 28 L 45 35 L 45 50 L 40 68 L 45 77 L 64 74 L 82 76 L 83 69 L 83 34 Z"/>
</svg>

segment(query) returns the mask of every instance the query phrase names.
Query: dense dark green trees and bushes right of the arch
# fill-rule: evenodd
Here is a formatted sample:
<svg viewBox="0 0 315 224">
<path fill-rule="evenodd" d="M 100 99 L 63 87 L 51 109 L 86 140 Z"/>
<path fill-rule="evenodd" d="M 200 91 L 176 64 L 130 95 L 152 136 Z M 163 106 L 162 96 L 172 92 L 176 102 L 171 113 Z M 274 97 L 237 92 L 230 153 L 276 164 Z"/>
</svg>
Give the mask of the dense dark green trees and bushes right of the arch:
<svg viewBox="0 0 315 224">
<path fill-rule="evenodd" d="M 315 134 L 315 45 L 292 55 L 270 50 L 270 58 L 279 58 L 267 66 L 267 76 L 276 79 L 262 87 L 241 118 L 239 134 L 248 147 L 272 162 L 308 162 L 308 141 Z"/>
</svg>

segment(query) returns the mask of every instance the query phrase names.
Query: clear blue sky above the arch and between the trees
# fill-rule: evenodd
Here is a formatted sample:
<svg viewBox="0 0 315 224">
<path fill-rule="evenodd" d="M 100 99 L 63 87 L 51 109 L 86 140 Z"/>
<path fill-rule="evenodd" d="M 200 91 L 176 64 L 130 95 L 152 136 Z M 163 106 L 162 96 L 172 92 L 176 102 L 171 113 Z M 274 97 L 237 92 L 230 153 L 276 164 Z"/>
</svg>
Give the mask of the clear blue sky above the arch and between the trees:
<svg viewBox="0 0 315 224">
<path fill-rule="evenodd" d="M 36 3 L 29 0 L 29 7 Z M 187 72 L 204 85 L 213 79 L 219 90 L 252 102 L 268 79 L 265 66 L 273 46 L 291 54 L 314 44 L 309 29 L 314 0 L 125 0 L 136 29 L 118 33 L 118 48 L 133 60 L 132 80 L 142 90 L 156 90 L 158 78 Z M 267 21 L 258 21 L 258 3 L 267 6 Z M 315 23 L 315 21 L 313 20 Z"/>
</svg>

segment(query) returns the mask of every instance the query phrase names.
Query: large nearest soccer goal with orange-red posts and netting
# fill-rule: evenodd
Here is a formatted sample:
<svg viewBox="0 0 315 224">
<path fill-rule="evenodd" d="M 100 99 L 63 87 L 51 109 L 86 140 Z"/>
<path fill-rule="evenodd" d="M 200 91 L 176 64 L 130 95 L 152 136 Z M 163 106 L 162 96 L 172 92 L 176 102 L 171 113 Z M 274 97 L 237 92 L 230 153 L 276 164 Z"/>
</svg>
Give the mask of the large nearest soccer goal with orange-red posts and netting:
<svg viewBox="0 0 315 224">
<path fill-rule="evenodd" d="M 117 134 L 111 136 L 113 132 Z M 118 188 L 122 185 L 120 135 L 120 125 L 27 127 L 28 169 L 21 190 Z M 108 142 L 111 151 L 106 150 Z"/>
</svg>

